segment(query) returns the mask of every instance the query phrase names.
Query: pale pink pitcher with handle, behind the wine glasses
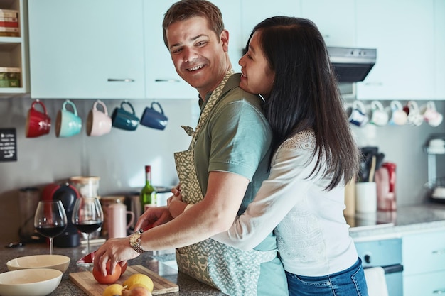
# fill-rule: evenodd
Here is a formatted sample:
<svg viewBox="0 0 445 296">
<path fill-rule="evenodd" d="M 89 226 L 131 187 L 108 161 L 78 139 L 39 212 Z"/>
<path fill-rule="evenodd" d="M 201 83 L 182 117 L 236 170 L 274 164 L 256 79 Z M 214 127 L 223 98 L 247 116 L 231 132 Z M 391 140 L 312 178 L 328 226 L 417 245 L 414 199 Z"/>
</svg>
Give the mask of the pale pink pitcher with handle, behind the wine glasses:
<svg viewBox="0 0 445 296">
<path fill-rule="evenodd" d="M 127 215 L 132 216 L 127 223 Z M 107 231 L 108 238 L 125 237 L 127 236 L 127 230 L 132 226 L 134 221 L 134 213 L 127 211 L 125 204 L 122 204 L 119 199 L 116 203 L 110 204 L 107 208 Z"/>
</svg>

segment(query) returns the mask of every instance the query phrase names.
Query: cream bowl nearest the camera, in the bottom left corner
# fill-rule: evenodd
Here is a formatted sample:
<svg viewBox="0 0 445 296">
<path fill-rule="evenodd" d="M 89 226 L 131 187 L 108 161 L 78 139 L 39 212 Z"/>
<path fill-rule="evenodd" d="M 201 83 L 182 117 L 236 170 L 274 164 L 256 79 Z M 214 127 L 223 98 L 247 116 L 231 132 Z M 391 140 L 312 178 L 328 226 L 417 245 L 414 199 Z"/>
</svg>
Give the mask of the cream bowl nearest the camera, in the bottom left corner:
<svg viewBox="0 0 445 296">
<path fill-rule="evenodd" d="M 33 268 L 0 273 L 1 296 L 45 296 L 62 280 L 60 270 Z"/>
</svg>

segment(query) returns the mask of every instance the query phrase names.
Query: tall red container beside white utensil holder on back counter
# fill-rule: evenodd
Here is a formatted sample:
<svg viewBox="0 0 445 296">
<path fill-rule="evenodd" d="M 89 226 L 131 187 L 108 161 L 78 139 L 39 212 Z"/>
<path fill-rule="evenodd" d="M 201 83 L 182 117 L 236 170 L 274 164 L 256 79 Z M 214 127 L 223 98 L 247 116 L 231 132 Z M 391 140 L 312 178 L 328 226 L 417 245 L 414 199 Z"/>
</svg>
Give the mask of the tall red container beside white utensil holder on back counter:
<svg viewBox="0 0 445 296">
<path fill-rule="evenodd" d="M 377 186 L 377 209 L 379 211 L 395 211 L 397 209 L 395 199 L 395 163 L 383 163 L 375 172 Z"/>
</svg>

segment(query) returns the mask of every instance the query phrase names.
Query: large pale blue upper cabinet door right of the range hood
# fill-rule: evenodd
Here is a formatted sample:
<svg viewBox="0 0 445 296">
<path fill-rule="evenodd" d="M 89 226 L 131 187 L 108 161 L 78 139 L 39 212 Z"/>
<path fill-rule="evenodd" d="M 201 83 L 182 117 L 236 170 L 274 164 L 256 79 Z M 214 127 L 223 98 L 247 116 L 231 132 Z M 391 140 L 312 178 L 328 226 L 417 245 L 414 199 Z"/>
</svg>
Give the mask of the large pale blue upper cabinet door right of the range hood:
<svg viewBox="0 0 445 296">
<path fill-rule="evenodd" d="M 434 95 L 433 0 L 356 1 L 357 45 L 377 48 L 358 99 L 431 99 Z"/>
</svg>

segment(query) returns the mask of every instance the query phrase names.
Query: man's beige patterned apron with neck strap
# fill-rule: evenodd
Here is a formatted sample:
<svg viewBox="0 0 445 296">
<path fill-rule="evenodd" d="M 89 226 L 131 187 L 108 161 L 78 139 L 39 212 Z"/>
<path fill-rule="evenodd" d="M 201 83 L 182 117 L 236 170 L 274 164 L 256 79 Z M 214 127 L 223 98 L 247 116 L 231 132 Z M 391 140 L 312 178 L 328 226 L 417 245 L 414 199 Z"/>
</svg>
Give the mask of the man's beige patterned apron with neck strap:
<svg viewBox="0 0 445 296">
<path fill-rule="evenodd" d="M 193 128 L 183 126 L 188 135 L 192 136 L 188 150 L 175 153 L 176 170 L 184 202 L 197 204 L 204 198 L 193 158 L 196 138 L 232 74 L 232 70 L 228 71 L 223 81 L 213 91 L 200 115 L 196 130 L 193 132 Z M 242 251 L 213 239 L 176 249 L 176 261 L 181 272 L 231 296 L 257 295 L 259 265 L 276 257 L 277 250 Z"/>
</svg>

